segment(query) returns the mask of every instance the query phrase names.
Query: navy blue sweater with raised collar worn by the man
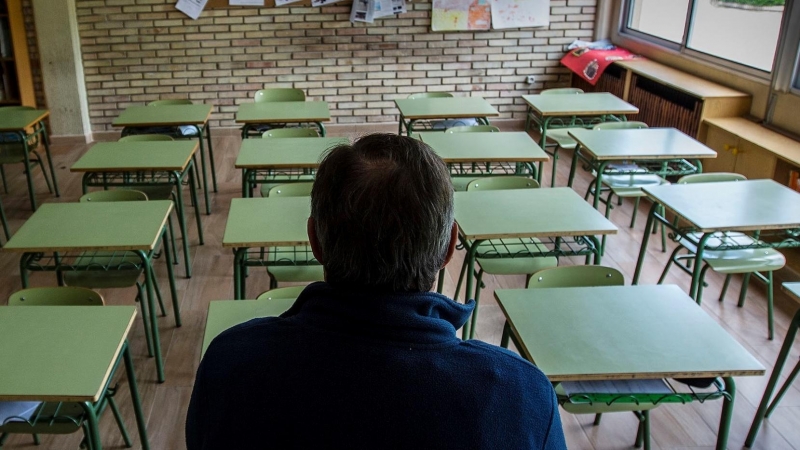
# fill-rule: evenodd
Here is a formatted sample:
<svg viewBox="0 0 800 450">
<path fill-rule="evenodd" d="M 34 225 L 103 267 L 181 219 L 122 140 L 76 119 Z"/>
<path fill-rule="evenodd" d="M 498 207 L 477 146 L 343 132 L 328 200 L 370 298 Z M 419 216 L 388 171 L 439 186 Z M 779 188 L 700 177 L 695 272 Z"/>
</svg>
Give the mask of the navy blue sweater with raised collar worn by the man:
<svg viewBox="0 0 800 450">
<path fill-rule="evenodd" d="M 473 305 L 310 285 L 281 317 L 211 343 L 188 450 L 566 449 L 542 372 L 456 337 Z"/>
</svg>

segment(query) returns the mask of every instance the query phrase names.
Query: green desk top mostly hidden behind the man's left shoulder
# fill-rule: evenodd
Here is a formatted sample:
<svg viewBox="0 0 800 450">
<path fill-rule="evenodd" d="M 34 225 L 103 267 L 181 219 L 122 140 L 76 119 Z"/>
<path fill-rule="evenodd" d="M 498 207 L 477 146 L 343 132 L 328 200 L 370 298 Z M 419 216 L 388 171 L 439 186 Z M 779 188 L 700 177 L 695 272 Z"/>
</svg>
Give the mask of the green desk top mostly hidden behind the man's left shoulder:
<svg viewBox="0 0 800 450">
<path fill-rule="evenodd" d="M 293 298 L 276 298 L 270 300 L 216 300 L 208 305 L 206 332 L 203 335 L 203 350 L 206 353 L 211 341 L 220 333 L 240 323 L 256 317 L 278 316 L 294 303 Z"/>
</svg>

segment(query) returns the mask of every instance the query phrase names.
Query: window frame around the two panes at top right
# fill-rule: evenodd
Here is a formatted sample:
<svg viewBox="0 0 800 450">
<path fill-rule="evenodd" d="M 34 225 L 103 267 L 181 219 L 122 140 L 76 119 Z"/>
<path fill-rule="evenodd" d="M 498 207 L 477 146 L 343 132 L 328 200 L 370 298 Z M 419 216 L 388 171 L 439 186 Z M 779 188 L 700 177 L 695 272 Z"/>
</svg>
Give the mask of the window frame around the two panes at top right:
<svg viewBox="0 0 800 450">
<path fill-rule="evenodd" d="M 771 71 L 764 71 L 764 70 L 757 69 L 755 67 L 751 67 L 751 66 L 748 66 L 748 65 L 745 65 L 745 64 L 737 63 L 737 62 L 729 60 L 729 59 L 725 59 L 725 58 L 722 58 L 722 57 L 719 57 L 719 56 L 714 56 L 714 55 L 711 55 L 711 54 L 708 54 L 708 53 L 704 53 L 704 52 L 701 52 L 699 50 L 695 50 L 695 49 L 692 49 L 692 48 L 688 47 L 687 44 L 688 44 L 688 41 L 689 41 L 689 34 L 691 32 L 692 20 L 694 19 L 695 4 L 697 3 L 698 0 L 689 0 L 689 7 L 686 10 L 686 22 L 685 22 L 684 29 L 683 29 L 683 38 L 681 39 L 680 43 L 675 43 L 675 42 L 672 42 L 672 41 L 668 41 L 666 39 L 663 39 L 663 38 L 660 38 L 660 37 L 657 37 L 657 36 L 653 36 L 651 34 L 647 34 L 647 33 L 635 30 L 633 28 L 630 28 L 628 24 L 629 24 L 629 19 L 630 19 L 631 13 L 633 11 L 634 1 L 636 1 L 636 0 L 623 0 L 621 2 L 622 4 L 621 4 L 620 9 L 619 9 L 619 14 L 620 15 L 619 15 L 619 22 L 618 22 L 619 23 L 618 32 L 620 33 L 620 35 L 622 35 L 625 38 L 634 38 L 634 39 L 639 40 L 639 41 L 644 41 L 647 44 L 655 45 L 655 46 L 661 47 L 663 49 L 672 50 L 672 51 L 680 54 L 681 56 L 685 56 L 685 57 L 688 57 L 688 58 L 693 59 L 693 60 L 706 62 L 706 63 L 712 64 L 713 66 L 722 67 L 722 68 L 734 71 L 736 73 L 745 74 L 745 75 L 748 75 L 748 76 L 750 76 L 752 78 L 759 79 L 759 80 L 762 80 L 762 81 L 765 81 L 765 82 L 769 82 L 773 78 L 773 73 L 777 72 L 776 71 L 776 67 L 778 67 L 780 65 L 779 64 L 779 56 L 781 54 L 780 50 L 781 50 L 781 45 L 782 45 L 782 39 L 780 37 L 778 39 L 778 45 L 776 47 L 776 54 L 775 54 L 775 60 L 773 62 L 773 68 L 772 68 Z M 790 23 L 790 22 L 791 23 L 797 23 L 798 24 L 797 28 L 800 28 L 800 20 L 798 20 L 798 19 L 800 19 L 800 17 L 789 17 L 792 20 L 787 20 L 787 13 L 788 13 L 788 16 L 792 16 L 792 14 L 791 14 L 791 10 L 792 9 L 794 9 L 795 12 L 797 12 L 797 10 L 800 10 L 800 8 L 792 8 L 792 5 L 794 3 L 797 3 L 797 2 L 800 2 L 800 0 L 786 0 L 786 6 L 784 6 L 784 20 L 781 22 L 781 28 L 782 28 L 782 30 L 784 32 L 781 33 L 781 37 L 783 37 L 784 34 L 787 34 L 787 33 L 785 33 L 785 31 L 786 31 L 786 27 L 788 26 L 788 23 Z M 794 16 L 796 16 L 796 15 L 797 14 L 794 14 Z M 791 30 L 789 30 L 789 31 L 790 31 L 790 33 L 788 33 L 788 34 L 791 34 Z M 797 52 L 794 52 L 793 54 L 797 55 Z M 800 56 L 800 55 L 798 55 L 798 56 Z M 794 63 L 794 59 L 792 60 L 792 62 Z M 800 63 L 798 63 L 798 64 L 800 64 Z M 792 64 L 792 68 L 794 68 L 798 64 Z M 792 68 L 790 68 L 789 70 L 792 71 L 793 70 Z M 800 77 L 800 75 L 797 75 L 797 76 Z M 791 81 L 793 81 L 795 79 L 796 78 L 792 78 L 789 81 L 789 86 L 787 86 L 787 88 L 791 87 Z M 800 78 L 797 78 L 797 81 L 800 82 Z M 800 89 L 792 87 L 792 90 L 796 91 L 800 95 Z"/>
</svg>

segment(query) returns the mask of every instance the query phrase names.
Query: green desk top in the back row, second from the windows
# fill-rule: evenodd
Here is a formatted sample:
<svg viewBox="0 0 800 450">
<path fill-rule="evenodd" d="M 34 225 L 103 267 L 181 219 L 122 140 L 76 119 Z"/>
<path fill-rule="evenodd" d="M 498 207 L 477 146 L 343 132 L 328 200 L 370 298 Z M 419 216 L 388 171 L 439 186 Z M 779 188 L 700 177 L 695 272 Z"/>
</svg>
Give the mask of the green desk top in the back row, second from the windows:
<svg viewBox="0 0 800 450">
<path fill-rule="evenodd" d="M 494 117 L 500 113 L 481 97 L 437 97 L 395 100 L 406 119 Z"/>
</svg>

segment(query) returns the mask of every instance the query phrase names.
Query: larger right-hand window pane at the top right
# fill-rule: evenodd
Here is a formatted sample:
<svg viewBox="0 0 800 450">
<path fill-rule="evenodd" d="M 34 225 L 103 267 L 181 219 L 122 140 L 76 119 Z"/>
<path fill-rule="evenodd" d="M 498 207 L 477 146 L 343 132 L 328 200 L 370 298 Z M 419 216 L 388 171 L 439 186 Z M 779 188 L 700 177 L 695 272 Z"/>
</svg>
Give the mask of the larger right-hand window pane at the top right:
<svg viewBox="0 0 800 450">
<path fill-rule="evenodd" d="M 695 0 L 686 46 L 770 72 L 782 16 L 782 0 Z"/>
</svg>

